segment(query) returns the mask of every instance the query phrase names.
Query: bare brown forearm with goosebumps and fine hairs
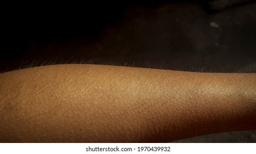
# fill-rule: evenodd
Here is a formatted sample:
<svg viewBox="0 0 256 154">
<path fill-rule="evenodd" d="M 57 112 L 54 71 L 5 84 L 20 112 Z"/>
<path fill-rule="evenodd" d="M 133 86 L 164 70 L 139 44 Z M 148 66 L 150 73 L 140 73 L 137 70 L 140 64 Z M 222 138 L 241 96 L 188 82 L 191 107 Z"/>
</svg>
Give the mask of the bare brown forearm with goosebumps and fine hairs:
<svg viewBox="0 0 256 154">
<path fill-rule="evenodd" d="M 65 64 L 0 74 L 0 142 L 168 142 L 256 129 L 256 74 Z"/>
</svg>

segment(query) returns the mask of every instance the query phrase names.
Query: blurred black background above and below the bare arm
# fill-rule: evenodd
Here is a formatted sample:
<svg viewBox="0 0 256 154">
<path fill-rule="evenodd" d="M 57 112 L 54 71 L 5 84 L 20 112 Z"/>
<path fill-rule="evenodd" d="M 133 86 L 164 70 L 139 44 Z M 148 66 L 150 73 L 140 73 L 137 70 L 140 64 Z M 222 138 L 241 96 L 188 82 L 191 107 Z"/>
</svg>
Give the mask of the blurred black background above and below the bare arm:
<svg viewBox="0 0 256 154">
<path fill-rule="evenodd" d="M 256 73 L 255 1 L 36 1 L 2 10 L 0 72 L 90 63 Z M 177 142 L 256 142 L 256 131 Z"/>
</svg>

